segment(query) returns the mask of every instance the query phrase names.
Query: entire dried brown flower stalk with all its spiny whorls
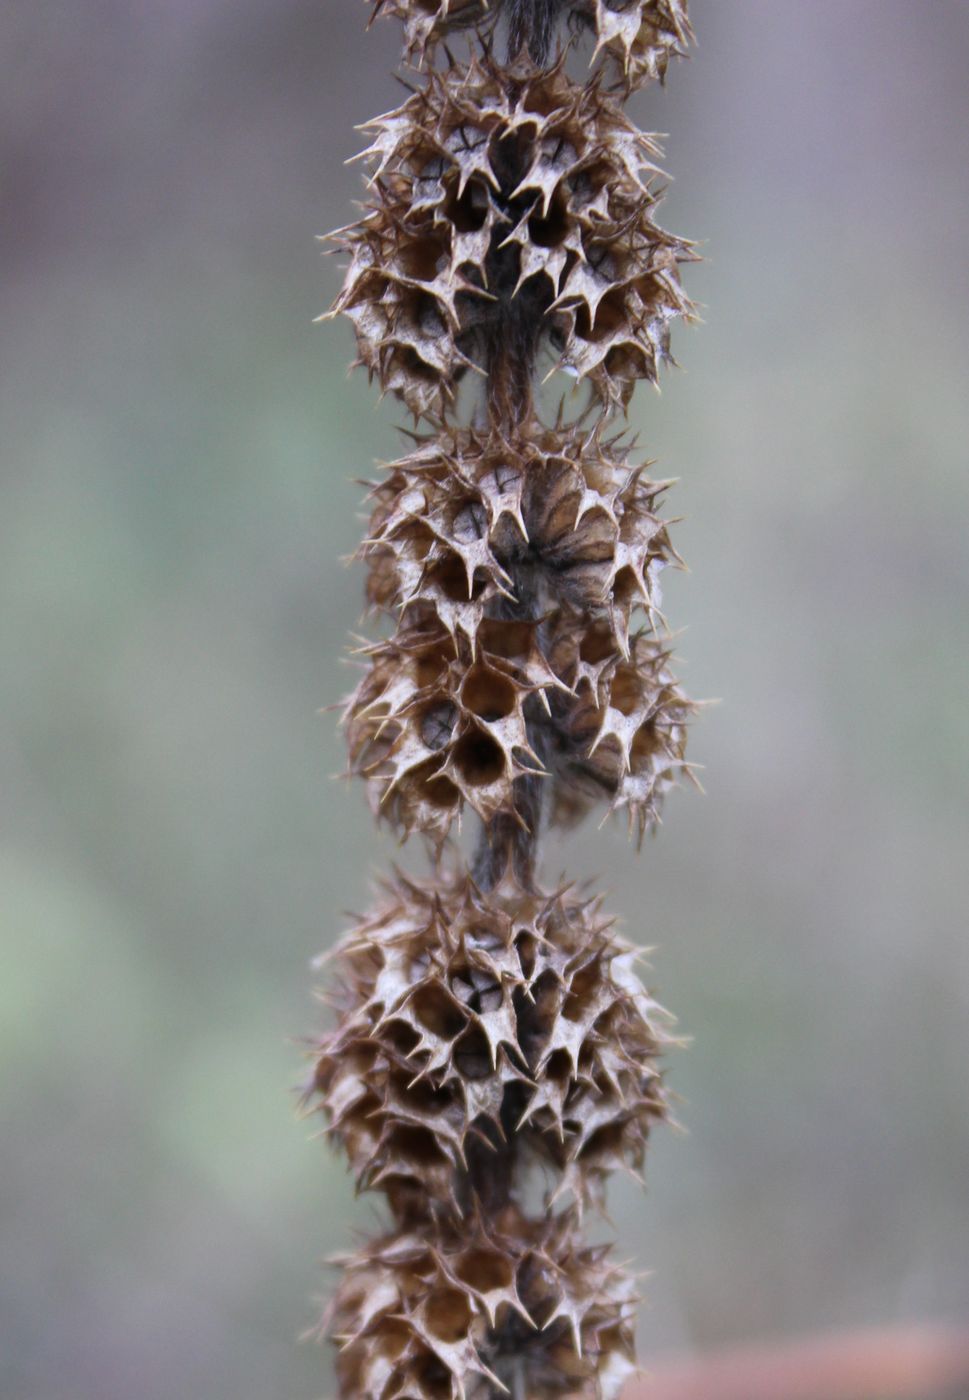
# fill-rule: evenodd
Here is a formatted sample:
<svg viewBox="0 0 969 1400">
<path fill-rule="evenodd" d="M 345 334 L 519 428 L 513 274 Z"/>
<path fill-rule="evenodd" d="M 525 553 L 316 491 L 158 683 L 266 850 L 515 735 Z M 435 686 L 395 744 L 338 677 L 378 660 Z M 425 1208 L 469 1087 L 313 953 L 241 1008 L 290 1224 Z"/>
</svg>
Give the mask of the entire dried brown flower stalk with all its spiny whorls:
<svg viewBox="0 0 969 1400">
<path fill-rule="evenodd" d="M 389 1225 L 342 1261 L 325 1330 L 344 1400 L 609 1400 L 634 1288 L 578 1231 L 668 1117 L 668 1018 L 599 900 L 542 888 L 538 846 L 595 806 L 641 839 L 688 771 L 667 483 L 613 424 L 690 312 L 657 146 L 620 106 L 689 21 L 683 0 L 382 8 L 423 71 L 367 127 L 335 311 L 416 431 L 371 491 L 360 557 L 391 624 L 344 722 L 374 811 L 427 840 L 433 872 L 395 875 L 329 959 L 308 1098 Z M 578 406 L 548 420 L 556 371 Z"/>
</svg>

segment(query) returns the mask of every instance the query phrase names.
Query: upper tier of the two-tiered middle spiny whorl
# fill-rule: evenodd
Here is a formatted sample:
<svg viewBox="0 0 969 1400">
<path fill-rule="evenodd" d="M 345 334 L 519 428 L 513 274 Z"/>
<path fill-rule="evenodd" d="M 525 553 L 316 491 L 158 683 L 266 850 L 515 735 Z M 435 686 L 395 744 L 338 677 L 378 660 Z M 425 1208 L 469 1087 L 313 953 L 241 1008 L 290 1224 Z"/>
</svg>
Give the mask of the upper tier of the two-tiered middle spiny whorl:
<svg viewBox="0 0 969 1400">
<path fill-rule="evenodd" d="M 539 613 L 567 605 L 606 619 L 626 654 L 630 615 L 660 620 L 660 573 L 679 563 L 655 512 L 668 483 L 630 466 L 630 451 L 599 427 L 539 423 L 513 438 L 448 430 L 424 440 L 371 493 L 360 550 L 371 603 L 433 605 L 473 647 L 496 599 L 514 605 L 527 591 Z"/>
</svg>

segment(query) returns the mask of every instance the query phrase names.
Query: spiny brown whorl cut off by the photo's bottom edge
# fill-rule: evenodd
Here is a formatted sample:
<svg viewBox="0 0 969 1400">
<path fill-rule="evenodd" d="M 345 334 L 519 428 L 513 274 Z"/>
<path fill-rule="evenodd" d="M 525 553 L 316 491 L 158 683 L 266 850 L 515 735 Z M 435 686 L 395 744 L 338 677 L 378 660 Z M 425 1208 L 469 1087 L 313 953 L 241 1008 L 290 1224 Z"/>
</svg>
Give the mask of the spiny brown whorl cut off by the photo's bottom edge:
<svg viewBox="0 0 969 1400">
<path fill-rule="evenodd" d="M 567 1217 L 535 1222 L 508 1207 L 339 1263 L 328 1322 L 354 1400 L 615 1400 L 634 1371 L 634 1284 L 602 1246 L 577 1246 Z"/>
</svg>

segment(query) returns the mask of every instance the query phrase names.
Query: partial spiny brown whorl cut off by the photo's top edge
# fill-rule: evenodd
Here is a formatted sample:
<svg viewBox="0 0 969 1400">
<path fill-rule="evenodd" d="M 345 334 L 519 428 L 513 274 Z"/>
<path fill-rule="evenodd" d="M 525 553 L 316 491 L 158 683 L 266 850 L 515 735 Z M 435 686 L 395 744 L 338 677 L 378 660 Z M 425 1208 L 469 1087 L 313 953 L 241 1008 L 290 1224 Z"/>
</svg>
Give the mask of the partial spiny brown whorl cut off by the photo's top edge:
<svg viewBox="0 0 969 1400">
<path fill-rule="evenodd" d="M 606 74 L 629 92 L 667 74 L 669 60 L 682 57 L 693 31 L 686 0 L 377 0 L 374 13 L 403 22 L 405 48 L 419 63 L 441 39 L 461 29 L 490 35 L 514 10 L 543 10 L 541 24 L 552 29 L 564 21 L 570 29 L 591 29 L 595 36 L 592 66 L 605 63 Z M 511 24 L 529 29 L 528 17 Z"/>
</svg>

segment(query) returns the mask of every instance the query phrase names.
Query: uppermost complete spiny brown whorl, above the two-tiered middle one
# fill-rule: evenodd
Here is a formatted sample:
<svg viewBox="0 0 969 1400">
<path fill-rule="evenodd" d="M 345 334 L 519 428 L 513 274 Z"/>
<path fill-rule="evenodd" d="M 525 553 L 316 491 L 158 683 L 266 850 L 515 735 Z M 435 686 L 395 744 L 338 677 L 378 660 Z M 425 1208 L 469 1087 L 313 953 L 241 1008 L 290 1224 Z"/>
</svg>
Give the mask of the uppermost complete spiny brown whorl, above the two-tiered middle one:
<svg viewBox="0 0 969 1400">
<path fill-rule="evenodd" d="M 350 266 L 330 314 L 416 417 L 489 371 L 510 318 L 604 409 L 657 378 L 693 253 L 653 221 L 655 143 L 595 85 L 472 59 L 367 129 L 371 204 L 332 235 Z"/>
</svg>

